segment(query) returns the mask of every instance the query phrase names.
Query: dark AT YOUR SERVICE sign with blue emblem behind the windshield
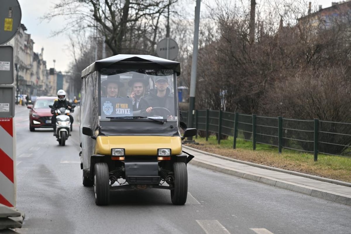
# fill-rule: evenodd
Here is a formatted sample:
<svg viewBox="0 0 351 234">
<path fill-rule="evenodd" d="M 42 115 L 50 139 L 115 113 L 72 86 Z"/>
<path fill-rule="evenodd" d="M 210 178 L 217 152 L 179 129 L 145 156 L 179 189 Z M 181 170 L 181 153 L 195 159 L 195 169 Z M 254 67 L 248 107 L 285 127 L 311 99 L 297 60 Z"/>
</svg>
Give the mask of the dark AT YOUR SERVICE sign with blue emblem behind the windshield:
<svg viewBox="0 0 351 234">
<path fill-rule="evenodd" d="M 101 119 L 133 116 L 130 98 L 101 98 Z"/>
</svg>

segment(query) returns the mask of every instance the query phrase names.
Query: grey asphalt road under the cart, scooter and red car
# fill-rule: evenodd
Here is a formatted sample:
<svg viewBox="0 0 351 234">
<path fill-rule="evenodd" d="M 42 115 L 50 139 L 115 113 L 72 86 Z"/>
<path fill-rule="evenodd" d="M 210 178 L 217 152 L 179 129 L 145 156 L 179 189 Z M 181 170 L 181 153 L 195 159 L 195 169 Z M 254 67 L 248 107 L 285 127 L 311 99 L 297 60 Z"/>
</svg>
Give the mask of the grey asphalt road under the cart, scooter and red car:
<svg viewBox="0 0 351 234">
<path fill-rule="evenodd" d="M 16 107 L 17 200 L 21 229 L 9 233 L 350 233 L 351 207 L 188 165 L 188 200 L 168 190 L 111 192 L 96 206 L 82 185 L 78 121 L 66 146 L 52 130 L 29 132 Z"/>
</svg>

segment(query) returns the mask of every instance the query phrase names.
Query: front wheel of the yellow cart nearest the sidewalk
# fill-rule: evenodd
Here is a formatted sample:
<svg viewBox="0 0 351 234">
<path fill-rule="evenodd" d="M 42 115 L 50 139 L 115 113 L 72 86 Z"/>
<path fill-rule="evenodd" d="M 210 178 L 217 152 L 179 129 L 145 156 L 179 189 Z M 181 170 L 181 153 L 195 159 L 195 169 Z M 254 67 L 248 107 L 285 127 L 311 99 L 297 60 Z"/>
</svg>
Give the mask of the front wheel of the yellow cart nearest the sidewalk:
<svg viewBox="0 0 351 234">
<path fill-rule="evenodd" d="M 171 200 L 173 205 L 184 205 L 188 195 L 188 172 L 184 162 L 175 162 L 174 189 L 171 190 Z"/>
</svg>

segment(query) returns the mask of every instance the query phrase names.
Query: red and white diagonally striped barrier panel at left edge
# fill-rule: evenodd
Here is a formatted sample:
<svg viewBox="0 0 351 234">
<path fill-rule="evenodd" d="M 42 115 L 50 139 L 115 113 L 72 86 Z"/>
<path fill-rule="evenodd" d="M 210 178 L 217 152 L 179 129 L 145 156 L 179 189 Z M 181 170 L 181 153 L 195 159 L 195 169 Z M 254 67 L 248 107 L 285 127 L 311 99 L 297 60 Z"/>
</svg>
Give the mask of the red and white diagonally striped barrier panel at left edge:
<svg viewBox="0 0 351 234">
<path fill-rule="evenodd" d="M 16 176 L 13 118 L 0 118 L 0 203 L 15 207 Z"/>
</svg>

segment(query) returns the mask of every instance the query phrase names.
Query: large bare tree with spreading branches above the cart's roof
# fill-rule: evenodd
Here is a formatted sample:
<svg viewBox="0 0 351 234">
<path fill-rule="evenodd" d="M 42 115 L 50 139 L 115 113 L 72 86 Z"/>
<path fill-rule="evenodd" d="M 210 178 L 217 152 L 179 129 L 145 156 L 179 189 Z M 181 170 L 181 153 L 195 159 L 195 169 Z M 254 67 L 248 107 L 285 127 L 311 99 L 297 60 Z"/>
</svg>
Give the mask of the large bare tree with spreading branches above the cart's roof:
<svg viewBox="0 0 351 234">
<path fill-rule="evenodd" d="M 95 28 L 101 38 L 105 38 L 105 43 L 112 51 L 112 54 L 130 52 L 131 47 L 135 51 L 135 39 L 146 39 L 146 32 L 158 30 L 158 22 L 161 15 L 165 13 L 168 5 L 175 4 L 178 0 L 61 0 L 55 4 L 52 11 L 44 18 L 52 19 L 55 16 L 66 17 L 67 25 L 60 31 L 73 29 L 85 30 Z M 105 11 L 106 9 L 106 11 Z M 156 19 L 156 20 L 155 20 Z M 155 45 L 155 37 L 151 43 L 144 45 L 142 52 L 152 51 Z M 141 43 L 142 45 L 143 43 Z M 140 45 L 140 43 L 139 43 Z M 147 47 L 146 47 L 147 46 Z M 146 47 L 146 48 L 145 48 Z"/>
</svg>

